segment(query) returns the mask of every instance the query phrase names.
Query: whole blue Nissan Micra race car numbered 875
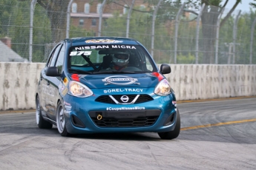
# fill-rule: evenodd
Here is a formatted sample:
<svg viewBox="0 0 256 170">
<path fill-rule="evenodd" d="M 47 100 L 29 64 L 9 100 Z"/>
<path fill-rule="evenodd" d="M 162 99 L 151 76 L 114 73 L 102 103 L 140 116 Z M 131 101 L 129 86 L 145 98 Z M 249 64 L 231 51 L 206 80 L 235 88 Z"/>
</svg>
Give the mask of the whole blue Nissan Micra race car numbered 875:
<svg viewBox="0 0 256 170">
<path fill-rule="evenodd" d="M 149 52 L 132 38 L 60 41 L 50 52 L 36 89 L 36 123 L 60 135 L 157 132 L 180 134 L 176 98 Z"/>
</svg>

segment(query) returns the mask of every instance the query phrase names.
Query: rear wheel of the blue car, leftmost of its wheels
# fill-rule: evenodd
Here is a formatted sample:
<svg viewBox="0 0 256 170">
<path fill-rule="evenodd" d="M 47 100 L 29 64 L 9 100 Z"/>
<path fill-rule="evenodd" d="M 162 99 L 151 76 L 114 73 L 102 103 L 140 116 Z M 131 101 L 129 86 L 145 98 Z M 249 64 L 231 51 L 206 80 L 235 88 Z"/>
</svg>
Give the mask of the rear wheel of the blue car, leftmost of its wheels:
<svg viewBox="0 0 256 170">
<path fill-rule="evenodd" d="M 42 118 L 39 96 L 36 96 L 36 124 L 40 129 L 51 129 L 53 124 Z"/>
</svg>

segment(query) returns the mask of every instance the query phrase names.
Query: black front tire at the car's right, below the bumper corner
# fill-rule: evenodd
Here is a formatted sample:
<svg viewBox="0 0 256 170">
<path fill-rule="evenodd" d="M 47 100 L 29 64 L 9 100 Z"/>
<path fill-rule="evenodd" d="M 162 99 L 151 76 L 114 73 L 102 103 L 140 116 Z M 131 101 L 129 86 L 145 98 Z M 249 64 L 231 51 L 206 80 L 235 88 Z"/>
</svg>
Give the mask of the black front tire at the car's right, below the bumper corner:
<svg viewBox="0 0 256 170">
<path fill-rule="evenodd" d="M 161 139 L 174 139 L 180 135 L 180 113 L 177 110 L 177 119 L 176 119 L 176 126 L 173 131 L 169 132 L 159 132 L 158 135 L 161 137 Z"/>
</svg>

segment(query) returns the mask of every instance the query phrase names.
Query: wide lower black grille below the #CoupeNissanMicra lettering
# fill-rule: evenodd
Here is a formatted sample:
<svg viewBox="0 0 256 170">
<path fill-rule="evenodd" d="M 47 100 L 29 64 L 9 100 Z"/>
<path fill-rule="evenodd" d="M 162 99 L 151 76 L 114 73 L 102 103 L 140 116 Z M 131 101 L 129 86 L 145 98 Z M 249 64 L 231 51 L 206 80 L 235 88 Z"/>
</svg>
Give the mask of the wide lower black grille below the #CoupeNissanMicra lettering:
<svg viewBox="0 0 256 170">
<path fill-rule="evenodd" d="M 102 118 L 102 120 L 97 120 L 92 118 L 92 120 L 99 127 L 139 127 L 151 126 L 157 118 L 158 116 L 147 116 L 131 119 Z"/>
</svg>

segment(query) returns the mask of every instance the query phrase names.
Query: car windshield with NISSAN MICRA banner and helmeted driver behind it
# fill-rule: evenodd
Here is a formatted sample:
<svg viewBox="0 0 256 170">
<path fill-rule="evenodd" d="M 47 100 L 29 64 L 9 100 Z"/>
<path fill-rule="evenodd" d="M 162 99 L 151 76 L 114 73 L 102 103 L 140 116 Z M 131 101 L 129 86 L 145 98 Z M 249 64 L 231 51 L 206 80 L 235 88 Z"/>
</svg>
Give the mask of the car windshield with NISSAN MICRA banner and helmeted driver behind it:
<svg viewBox="0 0 256 170">
<path fill-rule="evenodd" d="M 69 72 L 80 74 L 157 72 L 139 45 L 97 44 L 70 47 Z"/>
</svg>

